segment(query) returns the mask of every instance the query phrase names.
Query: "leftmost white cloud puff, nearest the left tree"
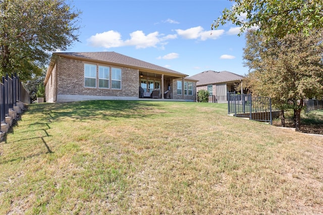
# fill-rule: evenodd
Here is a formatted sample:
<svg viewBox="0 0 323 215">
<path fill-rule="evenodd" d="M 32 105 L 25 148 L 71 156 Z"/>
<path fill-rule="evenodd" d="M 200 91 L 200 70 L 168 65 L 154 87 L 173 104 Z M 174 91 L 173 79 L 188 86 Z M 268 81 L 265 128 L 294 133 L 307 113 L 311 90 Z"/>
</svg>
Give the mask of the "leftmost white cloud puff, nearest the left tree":
<svg viewBox="0 0 323 215">
<path fill-rule="evenodd" d="M 106 31 L 91 36 L 87 42 L 94 47 L 112 48 L 123 46 L 121 34 L 117 31 Z"/>
</svg>

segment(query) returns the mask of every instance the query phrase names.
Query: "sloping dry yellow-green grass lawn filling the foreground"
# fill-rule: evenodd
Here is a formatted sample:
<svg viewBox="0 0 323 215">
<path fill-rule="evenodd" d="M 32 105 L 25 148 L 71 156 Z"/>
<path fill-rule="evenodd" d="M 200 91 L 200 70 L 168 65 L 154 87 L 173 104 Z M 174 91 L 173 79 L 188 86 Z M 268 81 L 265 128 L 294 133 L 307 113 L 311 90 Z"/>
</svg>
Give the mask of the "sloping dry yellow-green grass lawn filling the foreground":
<svg viewBox="0 0 323 215">
<path fill-rule="evenodd" d="M 323 214 L 323 136 L 225 104 L 32 104 L 0 142 L 0 214 Z"/>
</svg>

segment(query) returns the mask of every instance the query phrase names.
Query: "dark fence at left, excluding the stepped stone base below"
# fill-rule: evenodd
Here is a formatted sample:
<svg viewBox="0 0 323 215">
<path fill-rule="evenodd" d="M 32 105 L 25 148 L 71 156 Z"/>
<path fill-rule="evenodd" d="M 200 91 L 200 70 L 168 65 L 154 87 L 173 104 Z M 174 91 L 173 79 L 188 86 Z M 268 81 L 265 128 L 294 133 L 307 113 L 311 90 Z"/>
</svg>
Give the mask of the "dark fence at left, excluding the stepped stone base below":
<svg viewBox="0 0 323 215">
<path fill-rule="evenodd" d="M 11 75 L 11 77 L 7 74 L 6 77 L 2 77 L 2 82 L 0 83 L 1 122 L 6 121 L 9 110 L 17 106 L 17 102 L 30 104 L 30 96 L 16 74 Z"/>
</svg>

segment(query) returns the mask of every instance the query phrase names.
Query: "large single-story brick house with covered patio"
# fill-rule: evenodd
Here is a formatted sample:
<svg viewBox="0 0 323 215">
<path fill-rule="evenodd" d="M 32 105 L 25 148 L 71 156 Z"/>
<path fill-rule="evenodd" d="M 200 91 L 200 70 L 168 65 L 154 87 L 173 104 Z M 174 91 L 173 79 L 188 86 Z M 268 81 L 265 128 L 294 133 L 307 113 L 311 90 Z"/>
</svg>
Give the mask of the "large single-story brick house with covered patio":
<svg viewBox="0 0 323 215">
<path fill-rule="evenodd" d="M 153 90 L 160 100 L 167 95 L 196 101 L 196 82 L 178 71 L 116 52 L 58 52 L 51 57 L 44 85 L 50 103 L 147 100 Z"/>
</svg>

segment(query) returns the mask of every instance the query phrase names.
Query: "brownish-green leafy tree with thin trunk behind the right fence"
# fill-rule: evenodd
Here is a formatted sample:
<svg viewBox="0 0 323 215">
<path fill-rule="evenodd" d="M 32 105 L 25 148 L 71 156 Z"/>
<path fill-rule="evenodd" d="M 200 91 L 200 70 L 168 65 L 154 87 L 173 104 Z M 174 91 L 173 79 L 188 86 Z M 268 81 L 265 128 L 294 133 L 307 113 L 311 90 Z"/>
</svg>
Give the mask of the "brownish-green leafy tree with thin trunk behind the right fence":
<svg viewBox="0 0 323 215">
<path fill-rule="evenodd" d="M 269 96 L 281 110 L 292 108 L 300 131 L 304 98 L 323 95 L 323 30 L 312 29 L 268 40 L 249 31 L 244 48 L 249 67 L 246 84 L 259 96 Z"/>
</svg>

